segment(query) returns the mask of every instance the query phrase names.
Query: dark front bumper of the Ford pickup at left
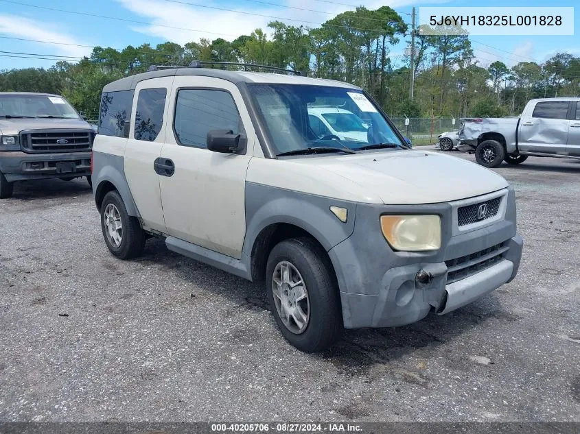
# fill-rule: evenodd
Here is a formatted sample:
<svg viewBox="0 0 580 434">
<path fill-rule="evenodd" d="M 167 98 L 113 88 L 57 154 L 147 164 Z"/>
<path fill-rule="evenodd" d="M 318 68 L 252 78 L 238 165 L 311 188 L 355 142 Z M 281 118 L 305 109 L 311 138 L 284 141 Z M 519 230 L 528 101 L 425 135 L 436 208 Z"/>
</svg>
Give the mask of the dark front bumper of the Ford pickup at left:
<svg viewBox="0 0 580 434">
<path fill-rule="evenodd" d="M 0 152 L 0 172 L 8 182 L 91 176 L 91 152 L 54 154 Z"/>
</svg>

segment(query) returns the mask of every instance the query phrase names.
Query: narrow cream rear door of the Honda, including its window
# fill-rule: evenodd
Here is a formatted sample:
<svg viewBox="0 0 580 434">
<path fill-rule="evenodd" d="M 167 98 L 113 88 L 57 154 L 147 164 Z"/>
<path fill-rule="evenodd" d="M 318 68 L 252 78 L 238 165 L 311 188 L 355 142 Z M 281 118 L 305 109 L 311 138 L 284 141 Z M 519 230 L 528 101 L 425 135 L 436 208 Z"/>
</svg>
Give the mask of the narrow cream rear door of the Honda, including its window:
<svg viewBox="0 0 580 434">
<path fill-rule="evenodd" d="M 165 232 L 155 163 L 165 141 L 167 105 L 174 77 L 143 80 L 135 88 L 125 176 L 143 224 Z"/>
</svg>

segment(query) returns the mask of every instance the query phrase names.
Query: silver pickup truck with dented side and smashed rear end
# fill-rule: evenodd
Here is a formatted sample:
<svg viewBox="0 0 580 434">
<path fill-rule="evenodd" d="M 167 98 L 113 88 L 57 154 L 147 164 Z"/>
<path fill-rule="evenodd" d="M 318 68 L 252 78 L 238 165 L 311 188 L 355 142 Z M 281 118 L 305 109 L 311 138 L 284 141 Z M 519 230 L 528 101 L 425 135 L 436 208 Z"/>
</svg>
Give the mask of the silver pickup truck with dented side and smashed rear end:
<svg viewBox="0 0 580 434">
<path fill-rule="evenodd" d="M 485 167 L 529 156 L 580 159 L 580 98 L 531 99 L 520 117 L 461 121 L 459 149 L 475 151 Z"/>
</svg>

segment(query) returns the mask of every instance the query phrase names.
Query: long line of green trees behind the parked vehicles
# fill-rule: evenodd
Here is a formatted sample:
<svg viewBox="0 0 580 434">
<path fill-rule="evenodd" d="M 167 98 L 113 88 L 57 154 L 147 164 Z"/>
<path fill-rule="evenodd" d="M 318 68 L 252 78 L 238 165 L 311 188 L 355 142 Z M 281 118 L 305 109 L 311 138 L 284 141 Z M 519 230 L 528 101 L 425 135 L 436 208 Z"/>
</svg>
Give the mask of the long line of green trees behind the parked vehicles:
<svg viewBox="0 0 580 434">
<path fill-rule="evenodd" d="M 48 69 L 0 72 L 0 91 L 57 93 L 95 117 L 103 86 L 150 65 L 186 66 L 192 60 L 243 62 L 292 68 L 311 77 L 361 86 L 393 117 L 517 116 L 533 97 L 580 95 L 580 58 L 557 53 L 542 64 L 499 60 L 480 66 L 466 35 L 424 36 L 415 31 L 414 97 L 410 53 L 393 49 L 411 29 L 395 10 L 364 7 L 338 14 L 321 27 L 272 21 L 233 41 L 202 38 L 185 45 L 95 47 L 80 62 Z"/>
</svg>

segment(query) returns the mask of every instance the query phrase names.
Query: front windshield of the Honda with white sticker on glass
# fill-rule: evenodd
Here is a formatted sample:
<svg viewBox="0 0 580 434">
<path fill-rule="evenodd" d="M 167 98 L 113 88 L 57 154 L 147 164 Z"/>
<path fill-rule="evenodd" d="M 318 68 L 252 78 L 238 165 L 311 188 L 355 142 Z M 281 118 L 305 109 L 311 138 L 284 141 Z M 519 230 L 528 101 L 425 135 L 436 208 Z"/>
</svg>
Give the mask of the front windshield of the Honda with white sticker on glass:
<svg viewBox="0 0 580 434">
<path fill-rule="evenodd" d="M 356 151 L 382 143 L 406 148 L 375 105 L 356 89 L 303 84 L 251 84 L 248 88 L 277 155 L 319 147 Z M 314 115 L 324 107 L 322 116 L 334 131 Z M 349 134 L 353 132 L 356 136 Z"/>
</svg>

